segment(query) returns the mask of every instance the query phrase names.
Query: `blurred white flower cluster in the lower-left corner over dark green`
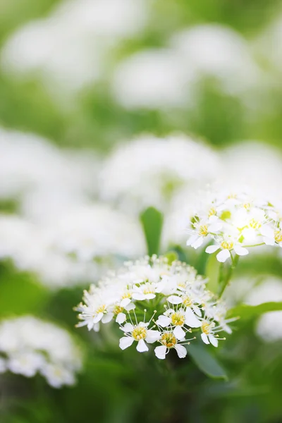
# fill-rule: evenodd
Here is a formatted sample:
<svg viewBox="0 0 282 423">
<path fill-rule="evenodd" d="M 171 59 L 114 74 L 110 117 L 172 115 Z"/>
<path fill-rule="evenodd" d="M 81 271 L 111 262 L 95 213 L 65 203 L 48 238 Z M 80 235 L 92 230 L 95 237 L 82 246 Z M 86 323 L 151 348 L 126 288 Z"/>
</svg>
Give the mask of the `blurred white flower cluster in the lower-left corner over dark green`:
<svg viewBox="0 0 282 423">
<path fill-rule="evenodd" d="M 0 372 L 41 374 L 54 388 L 75 384 L 82 355 L 64 329 L 32 316 L 0 323 Z"/>
</svg>

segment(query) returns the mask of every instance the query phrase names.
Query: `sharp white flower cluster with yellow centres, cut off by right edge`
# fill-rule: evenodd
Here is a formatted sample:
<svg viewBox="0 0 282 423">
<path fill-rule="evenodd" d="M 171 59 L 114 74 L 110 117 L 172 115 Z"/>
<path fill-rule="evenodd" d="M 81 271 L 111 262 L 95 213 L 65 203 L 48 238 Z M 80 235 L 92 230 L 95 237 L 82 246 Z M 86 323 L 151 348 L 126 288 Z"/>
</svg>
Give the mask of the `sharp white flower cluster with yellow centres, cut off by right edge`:
<svg viewBox="0 0 282 423">
<path fill-rule="evenodd" d="M 255 200 L 248 194 L 221 195 L 209 207 L 190 219 L 187 245 L 197 249 L 204 241 L 213 240 L 206 252 L 219 262 L 233 255 L 247 255 L 248 247 L 280 245 L 282 247 L 282 216 L 279 207 L 268 201 Z"/>
</svg>

